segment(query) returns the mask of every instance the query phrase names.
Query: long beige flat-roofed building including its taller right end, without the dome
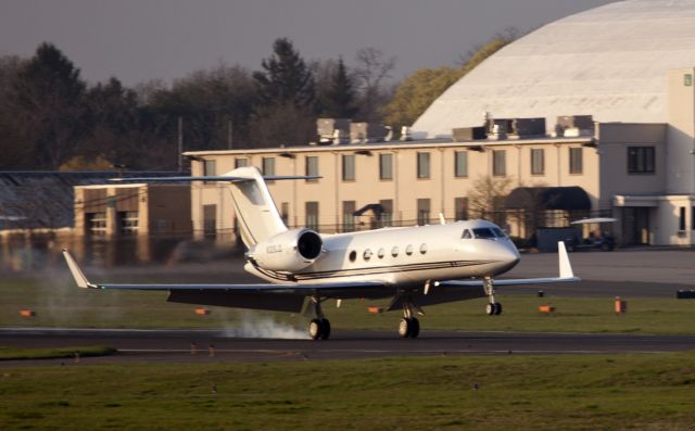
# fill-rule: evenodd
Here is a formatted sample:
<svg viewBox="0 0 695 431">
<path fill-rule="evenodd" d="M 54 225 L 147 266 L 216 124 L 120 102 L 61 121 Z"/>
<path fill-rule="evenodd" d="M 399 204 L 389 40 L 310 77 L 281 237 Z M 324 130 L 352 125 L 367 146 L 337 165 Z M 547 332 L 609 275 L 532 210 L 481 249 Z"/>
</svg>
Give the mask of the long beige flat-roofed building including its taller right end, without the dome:
<svg viewBox="0 0 695 431">
<path fill-rule="evenodd" d="M 289 226 L 323 232 L 376 226 L 439 223 L 480 216 L 471 202 L 481 180 L 519 188 L 581 188 L 585 206 L 554 211 L 529 225 L 529 208 L 509 207 L 489 214 L 513 236 L 529 238 L 538 226 L 567 226 L 583 216 L 618 218 L 615 233 L 622 244 L 692 244 L 695 157 L 695 92 L 687 77 L 694 69 L 672 71 L 669 80 L 668 123 L 591 123 L 585 116 L 558 118 L 556 136 L 525 135 L 523 118 L 495 121 L 485 139 L 435 139 L 407 142 L 306 145 L 263 150 L 200 151 L 193 176 L 227 173 L 253 165 L 264 175 L 318 175 L 320 179 L 269 183 L 280 214 Z M 667 79 L 665 77 L 665 79 Z M 541 123 L 543 124 L 543 123 Z M 557 126 L 563 127 L 557 127 Z M 518 130 L 515 130 L 517 127 Z M 466 130 L 464 130 L 466 131 Z M 456 135 L 454 132 L 454 135 Z M 571 197 L 576 199 L 574 195 Z M 224 183 L 194 182 L 191 189 L 193 231 L 198 238 L 235 237 L 230 193 Z M 382 213 L 353 214 L 379 204 Z M 519 210 L 523 217 L 519 217 Z M 475 214 L 471 214 L 475 213 Z M 559 213 L 559 215 L 558 215 Z M 540 224 L 540 225 L 539 225 Z M 531 229 L 529 226 L 532 226 Z"/>
</svg>

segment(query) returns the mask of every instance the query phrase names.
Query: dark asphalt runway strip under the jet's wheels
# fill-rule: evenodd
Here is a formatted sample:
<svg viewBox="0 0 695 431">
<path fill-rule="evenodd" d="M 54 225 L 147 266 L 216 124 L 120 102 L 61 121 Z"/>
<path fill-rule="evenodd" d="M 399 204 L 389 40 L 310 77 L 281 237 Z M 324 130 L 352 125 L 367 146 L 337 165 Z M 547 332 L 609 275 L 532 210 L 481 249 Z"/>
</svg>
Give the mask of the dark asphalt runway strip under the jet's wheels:
<svg viewBox="0 0 695 431">
<path fill-rule="evenodd" d="M 106 345 L 115 356 L 84 364 L 325 360 L 387 356 L 614 354 L 695 350 L 695 335 L 422 331 L 402 340 L 392 331 L 336 330 L 328 341 L 226 338 L 210 330 L 0 329 L 0 345 Z M 66 359 L 0 362 L 0 367 Z"/>
</svg>

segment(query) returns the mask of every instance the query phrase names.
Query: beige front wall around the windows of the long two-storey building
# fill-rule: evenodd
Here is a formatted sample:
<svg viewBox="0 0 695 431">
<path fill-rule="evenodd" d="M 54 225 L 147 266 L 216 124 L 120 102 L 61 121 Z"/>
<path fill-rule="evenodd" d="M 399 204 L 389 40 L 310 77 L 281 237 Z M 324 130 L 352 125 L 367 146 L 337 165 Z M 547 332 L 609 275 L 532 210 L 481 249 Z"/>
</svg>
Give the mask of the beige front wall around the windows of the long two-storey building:
<svg viewBox="0 0 695 431">
<path fill-rule="evenodd" d="M 263 157 L 275 157 L 276 175 L 306 174 L 306 157 L 318 157 L 319 180 L 274 181 L 268 185 L 278 210 L 286 203 L 288 224 L 304 226 L 306 202 L 318 202 L 319 226 L 332 231 L 345 221 L 343 202 L 354 201 L 355 207 L 393 200 L 393 219 L 416 224 L 417 200 L 430 200 L 430 223 L 437 223 L 442 213 L 448 220 L 455 218 L 456 198 L 468 197 L 476 180 L 492 175 L 493 151 L 506 151 L 506 175 L 510 189 L 518 186 L 580 186 L 597 205 L 598 155 L 591 148 L 592 138 L 504 140 L 445 143 L 391 143 L 368 145 L 301 147 L 268 150 L 231 150 L 188 153 L 195 159 L 192 175 L 201 176 L 205 160 L 215 160 L 217 175 L 231 170 L 236 159 L 248 159 L 258 168 Z M 484 147 L 484 148 L 483 148 Z M 569 174 L 569 148 L 581 148 L 583 170 Z M 531 175 L 531 150 L 545 152 L 545 172 Z M 455 152 L 468 152 L 468 176 L 455 176 Z M 430 154 L 429 178 L 417 177 L 418 153 Z M 282 155 L 281 155 L 282 154 Z M 393 155 L 393 179 L 380 179 L 379 155 Z M 355 156 L 355 179 L 342 179 L 342 155 Z M 212 175 L 212 174 L 211 174 Z M 226 242 L 232 239 L 233 211 L 226 186 L 194 182 L 191 188 L 193 230 L 197 238 L 204 237 L 203 205 L 217 205 L 216 238 Z M 367 223 L 368 217 L 361 221 Z"/>
</svg>

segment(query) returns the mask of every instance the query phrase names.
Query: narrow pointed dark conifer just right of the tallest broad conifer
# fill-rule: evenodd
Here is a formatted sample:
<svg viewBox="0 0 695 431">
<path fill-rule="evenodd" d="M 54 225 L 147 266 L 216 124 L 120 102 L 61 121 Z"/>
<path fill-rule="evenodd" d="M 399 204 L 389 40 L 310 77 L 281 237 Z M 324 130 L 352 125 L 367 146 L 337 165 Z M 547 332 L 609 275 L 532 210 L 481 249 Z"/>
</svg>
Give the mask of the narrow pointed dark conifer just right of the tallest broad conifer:
<svg viewBox="0 0 695 431">
<path fill-rule="evenodd" d="M 343 59 L 338 60 L 325 89 L 319 91 L 320 115 L 330 118 L 352 118 L 357 113 L 356 92 Z"/>
</svg>

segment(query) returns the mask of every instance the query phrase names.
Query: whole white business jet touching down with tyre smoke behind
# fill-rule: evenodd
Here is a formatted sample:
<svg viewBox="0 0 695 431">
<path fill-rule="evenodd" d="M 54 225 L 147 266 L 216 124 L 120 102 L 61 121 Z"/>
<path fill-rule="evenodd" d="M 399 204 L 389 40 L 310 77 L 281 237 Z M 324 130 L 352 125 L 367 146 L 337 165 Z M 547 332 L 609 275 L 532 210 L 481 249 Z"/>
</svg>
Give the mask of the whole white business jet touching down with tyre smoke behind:
<svg viewBox="0 0 695 431">
<path fill-rule="evenodd" d="M 266 177 L 266 180 L 309 177 Z M 315 178 L 315 177 L 311 177 Z M 485 220 L 382 228 L 319 234 L 288 229 L 255 167 L 217 177 L 130 178 L 130 181 L 225 181 L 230 185 L 241 238 L 248 248 L 245 270 L 265 284 L 101 284 L 90 282 L 75 259 L 63 253 L 78 287 L 167 290 L 168 301 L 299 313 L 307 303 L 312 339 L 328 339 L 330 322 L 321 303 L 329 299 L 392 297 L 387 310 L 403 309 L 399 335 L 416 338 L 421 306 L 488 296 L 486 313 L 502 313 L 495 286 L 579 281 L 565 244 L 558 243 L 559 277 L 494 280 L 519 262 L 509 238 Z M 308 301 L 306 301 L 308 299 Z"/>
</svg>

